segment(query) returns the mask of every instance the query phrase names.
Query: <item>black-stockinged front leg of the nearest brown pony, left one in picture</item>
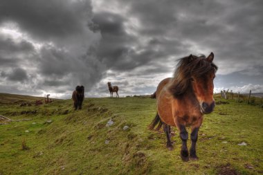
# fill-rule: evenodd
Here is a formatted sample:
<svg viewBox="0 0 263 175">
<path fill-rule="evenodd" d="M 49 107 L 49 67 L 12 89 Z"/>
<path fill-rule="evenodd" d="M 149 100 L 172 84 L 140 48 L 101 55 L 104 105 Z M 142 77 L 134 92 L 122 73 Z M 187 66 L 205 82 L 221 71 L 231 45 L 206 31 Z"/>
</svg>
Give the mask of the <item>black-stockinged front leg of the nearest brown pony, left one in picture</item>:
<svg viewBox="0 0 263 175">
<path fill-rule="evenodd" d="M 188 140 L 188 132 L 185 129 L 185 125 L 179 125 L 180 138 L 183 142 L 181 147 L 181 158 L 183 161 L 189 160 L 188 148 L 187 148 L 187 140 Z"/>
</svg>

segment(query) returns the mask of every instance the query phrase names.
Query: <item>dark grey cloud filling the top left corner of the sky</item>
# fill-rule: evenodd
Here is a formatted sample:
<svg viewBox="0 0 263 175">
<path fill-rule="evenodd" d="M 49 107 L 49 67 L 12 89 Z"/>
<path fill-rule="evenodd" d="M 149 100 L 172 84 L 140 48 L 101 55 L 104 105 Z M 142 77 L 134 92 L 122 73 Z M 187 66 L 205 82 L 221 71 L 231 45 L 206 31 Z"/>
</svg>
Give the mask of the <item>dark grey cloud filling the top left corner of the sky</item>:
<svg viewBox="0 0 263 175">
<path fill-rule="evenodd" d="M 87 24 L 91 13 L 90 1 L 3 0 L 0 22 L 14 21 L 34 37 L 53 39 L 82 33 L 82 26 Z M 86 21 L 80 18 L 86 18 Z"/>
</svg>

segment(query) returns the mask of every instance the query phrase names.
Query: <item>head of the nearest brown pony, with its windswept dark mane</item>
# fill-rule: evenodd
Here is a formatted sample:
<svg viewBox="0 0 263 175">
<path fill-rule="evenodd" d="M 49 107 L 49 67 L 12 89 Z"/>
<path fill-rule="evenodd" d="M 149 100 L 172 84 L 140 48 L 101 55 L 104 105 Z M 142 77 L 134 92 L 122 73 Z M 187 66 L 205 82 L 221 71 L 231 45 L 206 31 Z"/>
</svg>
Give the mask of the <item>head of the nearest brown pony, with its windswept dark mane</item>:
<svg viewBox="0 0 263 175">
<path fill-rule="evenodd" d="M 179 98 L 187 90 L 192 91 L 199 102 L 201 113 L 211 113 L 215 108 L 213 80 L 217 66 L 212 63 L 213 59 L 213 53 L 208 57 L 190 55 L 181 58 L 170 86 L 175 98 Z"/>
</svg>

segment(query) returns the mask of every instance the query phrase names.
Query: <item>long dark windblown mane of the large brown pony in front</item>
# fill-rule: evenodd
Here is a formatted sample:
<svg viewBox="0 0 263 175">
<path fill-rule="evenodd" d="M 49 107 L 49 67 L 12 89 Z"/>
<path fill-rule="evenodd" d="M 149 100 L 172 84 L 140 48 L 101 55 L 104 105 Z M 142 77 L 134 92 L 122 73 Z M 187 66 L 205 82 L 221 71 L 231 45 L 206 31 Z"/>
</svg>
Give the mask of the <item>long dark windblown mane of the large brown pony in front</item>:
<svg viewBox="0 0 263 175">
<path fill-rule="evenodd" d="M 179 59 L 174 71 L 170 92 L 174 97 L 179 97 L 188 89 L 192 75 L 202 76 L 209 71 L 217 71 L 217 66 L 208 62 L 205 55 L 199 57 L 190 55 Z"/>
</svg>

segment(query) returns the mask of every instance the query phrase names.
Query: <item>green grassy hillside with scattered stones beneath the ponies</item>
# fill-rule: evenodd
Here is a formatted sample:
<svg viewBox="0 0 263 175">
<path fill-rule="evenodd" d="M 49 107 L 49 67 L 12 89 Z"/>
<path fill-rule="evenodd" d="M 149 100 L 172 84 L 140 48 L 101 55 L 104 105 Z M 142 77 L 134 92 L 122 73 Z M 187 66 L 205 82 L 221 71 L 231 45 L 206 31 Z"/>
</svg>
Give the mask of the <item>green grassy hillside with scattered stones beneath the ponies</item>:
<svg viewBox="0 0 263 175">
<path fill-rule="evenodd" d="M 176 129 L 173 151 L 165 148 L 163 131 L 147 129 L 156 114 L 155 99 L 86 98 L 81 111 L 73 110 L 71 100 L 19 107 L 37 99 L 0 93 L 0 115 L 30 119 L 0 120 L 1 175 L 263 174 L 259 105 L 217 97 L 199 131 L 199 160 L 185 163 Z M 114 124 L 106 127 L 110 119 Z M 238 145 L 242 142 L 247 145 Z"/>
</svg>

